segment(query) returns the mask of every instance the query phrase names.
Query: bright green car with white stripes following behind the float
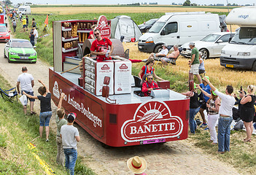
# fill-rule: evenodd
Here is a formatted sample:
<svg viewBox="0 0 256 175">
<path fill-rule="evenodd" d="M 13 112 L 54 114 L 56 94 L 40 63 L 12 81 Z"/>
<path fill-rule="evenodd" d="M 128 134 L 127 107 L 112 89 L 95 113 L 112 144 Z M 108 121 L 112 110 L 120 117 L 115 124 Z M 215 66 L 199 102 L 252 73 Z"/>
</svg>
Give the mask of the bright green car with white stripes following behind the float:
<svg viewBox="0 0 256 175">
<path fill-rule="evenodd" d="M 4 47 L 4 58 L 8 58 L 9 63 L 36 63 L 37 52 L 28 39 L 10 39 Z"/>
</svg>

